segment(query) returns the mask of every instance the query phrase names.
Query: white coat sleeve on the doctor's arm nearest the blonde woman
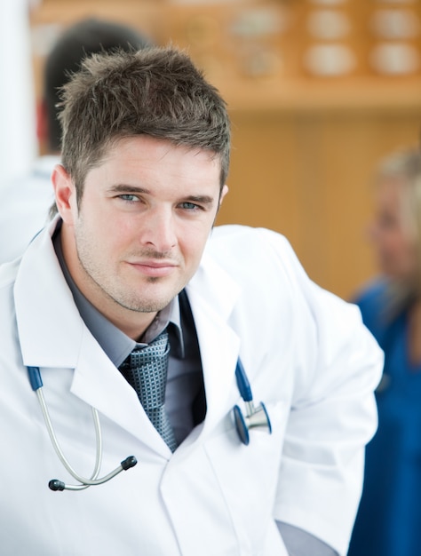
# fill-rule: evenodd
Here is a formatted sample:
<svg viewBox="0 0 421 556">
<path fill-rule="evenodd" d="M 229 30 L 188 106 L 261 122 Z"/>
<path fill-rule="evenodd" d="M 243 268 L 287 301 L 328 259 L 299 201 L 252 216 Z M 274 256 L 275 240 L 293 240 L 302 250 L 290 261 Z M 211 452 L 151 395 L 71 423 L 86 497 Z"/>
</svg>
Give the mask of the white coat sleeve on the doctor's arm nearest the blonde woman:
<svg viewBox="0 0 421 556">
<path fill-rule="evenodd" d="M 356 306 L 310 281 L 282 237 L 269 233 L 269 241 L 287 267 L 298 314 L 274 519 L 345 556 L 361 497 L 365 444 L 377 429 L 373 391 L 383 352 Z"/>
</svg>

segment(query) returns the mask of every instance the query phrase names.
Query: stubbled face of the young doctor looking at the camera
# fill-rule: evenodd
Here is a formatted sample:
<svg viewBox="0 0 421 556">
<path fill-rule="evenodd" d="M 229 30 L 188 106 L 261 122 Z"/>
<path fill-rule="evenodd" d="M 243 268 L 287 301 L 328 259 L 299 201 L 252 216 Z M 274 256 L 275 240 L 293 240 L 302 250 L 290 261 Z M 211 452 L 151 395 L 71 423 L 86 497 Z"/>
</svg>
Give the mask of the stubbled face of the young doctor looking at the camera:
<svg viewBox="0 0 421 556">
<path fill-rule="evenodd" d="M 80 210 L 68 174 L 55 171 L 69 271 L 126 333 L 126 319 L 150 322 L 195 274 L 218 211 L 219 171 L 203 150 L 122 139 L 88 172 Z"/>
</svg>

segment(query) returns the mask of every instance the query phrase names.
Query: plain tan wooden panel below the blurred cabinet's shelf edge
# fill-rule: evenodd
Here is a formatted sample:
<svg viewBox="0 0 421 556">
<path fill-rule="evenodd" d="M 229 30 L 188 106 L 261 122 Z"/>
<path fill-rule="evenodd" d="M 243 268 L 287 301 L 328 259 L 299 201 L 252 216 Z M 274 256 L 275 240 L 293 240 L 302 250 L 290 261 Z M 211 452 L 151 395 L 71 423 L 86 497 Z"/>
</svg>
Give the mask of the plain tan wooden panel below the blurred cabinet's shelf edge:
<svg viewBox="0 0 421 556">
<path fill-rule="evenodd" d="M 376 273 L 365 234 L 373 171 L 381 157 L 417 144 L 421 106 L 234 111 L 233 120 L 231 193 L 219 223 L 286 234 L 315 282 L 352 296 Z"/>
</svg>

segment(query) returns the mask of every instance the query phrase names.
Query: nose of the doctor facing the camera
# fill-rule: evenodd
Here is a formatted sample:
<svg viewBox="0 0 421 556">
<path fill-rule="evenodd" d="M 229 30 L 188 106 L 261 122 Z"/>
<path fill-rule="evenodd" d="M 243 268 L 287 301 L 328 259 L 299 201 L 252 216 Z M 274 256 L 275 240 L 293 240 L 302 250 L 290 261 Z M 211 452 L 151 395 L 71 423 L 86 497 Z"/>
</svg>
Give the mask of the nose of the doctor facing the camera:
<svg viewBox="0 0 421 556">
<path fill-rule="evenodd" d="M 143 245 L 163 253 L 177 244 L 174 215 L 167 207 L 149 209 L 143 215 L 143 226 L 139 240 Z"/>
</svg>

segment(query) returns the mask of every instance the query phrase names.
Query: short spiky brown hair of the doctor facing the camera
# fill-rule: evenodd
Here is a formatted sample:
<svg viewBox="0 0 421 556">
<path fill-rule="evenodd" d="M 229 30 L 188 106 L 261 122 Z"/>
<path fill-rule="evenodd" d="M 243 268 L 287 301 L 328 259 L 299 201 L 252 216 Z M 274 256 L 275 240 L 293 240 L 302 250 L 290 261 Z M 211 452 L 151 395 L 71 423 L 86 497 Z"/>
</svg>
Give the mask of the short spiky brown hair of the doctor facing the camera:
<svg viewBox="0 0 421 556">
<path fill-rule="evenodd" d="M 119 139 L 148 135 L 177 146 L 203 148 L 229 166 L 226 103 L 186 52 L 150 47 L 93 54 L 61 92 L 62 163 L 78 202 L 86 173 Z"/>
</svg>

